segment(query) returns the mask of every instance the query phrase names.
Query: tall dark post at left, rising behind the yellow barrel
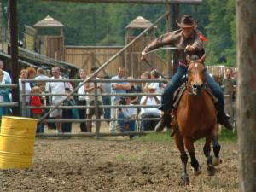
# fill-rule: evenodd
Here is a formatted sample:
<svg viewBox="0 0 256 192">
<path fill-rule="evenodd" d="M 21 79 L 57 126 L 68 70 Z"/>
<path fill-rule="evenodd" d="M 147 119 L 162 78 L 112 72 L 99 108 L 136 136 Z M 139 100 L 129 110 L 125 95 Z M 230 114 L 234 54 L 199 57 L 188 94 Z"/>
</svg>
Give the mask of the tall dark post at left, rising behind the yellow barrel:
<svg viewBox="0 0 256 192">
<path fill-rule="evenodd" d="M 18 30 L 17 30 L 17 1 L 9 1 L 9 25 L 10 25 L 10 55 L 11 55 L 11 77 L 13 84 L 19 84 L 20 66 L 18 62 Z M 19 102 L 18 90 L 13 91 L 13 102 Z M 19 115 L 19 108 L 13 108 L 13 114 Z"/>
</svg>

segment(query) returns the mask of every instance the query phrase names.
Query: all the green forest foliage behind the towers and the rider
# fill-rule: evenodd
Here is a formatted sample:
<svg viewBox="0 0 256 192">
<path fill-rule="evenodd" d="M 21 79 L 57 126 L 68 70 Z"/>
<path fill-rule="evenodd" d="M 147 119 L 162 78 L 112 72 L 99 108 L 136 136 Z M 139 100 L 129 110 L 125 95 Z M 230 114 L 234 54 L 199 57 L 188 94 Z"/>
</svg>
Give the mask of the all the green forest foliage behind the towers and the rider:
<svg viewBox="0 0 256 192">
<path fill-rule="evenodd" d="M 166 11 L 165 5 L 68 3 L 19 0 L 19 38 L 24 25 L 33 26 L 47 15 L 65 27 L 68 45 L 123 45 L 125 26 L 137 16 L 154 22 Z M 7 0 L 2 0 L 7 6 Z M 209 39 L 206 44 L 207 64 L 236 64 L 236 9 L 234 0 L 207 0 L 201 5 L 179 5 L 179 17 L 190 14 L 198 21 L 198 29 Z M 7 22 L 7 16 L 4 15 Z M 166 32 L 166 21 L 158 25 L 156 36 Z M 165 54 L 163 54 L 165 55 Z"/>
</svg>

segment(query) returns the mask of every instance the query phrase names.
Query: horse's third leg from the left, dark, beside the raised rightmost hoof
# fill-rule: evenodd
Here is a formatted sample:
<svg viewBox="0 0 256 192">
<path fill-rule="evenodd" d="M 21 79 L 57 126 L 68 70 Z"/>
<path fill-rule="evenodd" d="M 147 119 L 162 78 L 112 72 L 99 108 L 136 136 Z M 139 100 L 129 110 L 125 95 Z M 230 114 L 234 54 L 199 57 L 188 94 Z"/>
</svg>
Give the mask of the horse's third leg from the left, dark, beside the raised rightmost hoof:
<svg viewBox="0 0 256 192">
<path fill-rule="evenodd" d="M 215 174 L 215 168 L 212 165 L 212 156 L 210 155 L 211 143 L 212 143 L 212 135 L 206 137 L 206 144 L 204 146 L 204 154 L 207 158 L 207 172 L 209 176 L 213 176 Z"/>
</svg>

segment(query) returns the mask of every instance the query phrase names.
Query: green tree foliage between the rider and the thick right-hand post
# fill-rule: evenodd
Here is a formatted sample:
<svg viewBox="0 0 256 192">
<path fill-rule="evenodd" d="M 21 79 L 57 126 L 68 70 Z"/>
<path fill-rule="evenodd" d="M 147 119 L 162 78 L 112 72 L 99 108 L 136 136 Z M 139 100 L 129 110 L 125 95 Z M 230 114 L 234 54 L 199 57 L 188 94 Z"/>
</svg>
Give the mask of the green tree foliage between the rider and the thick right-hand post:
<svg viewBox="0 0 256 192">
<path fill-rule="evenodd" d="M 236 26 L 235 1 L 209 0 L 209 23 L 206 26 L 207 62 L 222 63 L 228 66 L 236 64 Z"/>
</svg>

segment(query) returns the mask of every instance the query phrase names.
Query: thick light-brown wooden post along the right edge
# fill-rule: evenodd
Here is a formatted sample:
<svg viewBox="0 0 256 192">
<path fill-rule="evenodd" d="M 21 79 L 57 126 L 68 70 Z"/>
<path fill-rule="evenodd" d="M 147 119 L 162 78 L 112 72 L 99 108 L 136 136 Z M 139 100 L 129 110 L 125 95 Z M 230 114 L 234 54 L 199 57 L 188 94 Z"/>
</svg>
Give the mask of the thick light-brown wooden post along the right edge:
<svg viewBox="0 0 256 192">
<path fill-rule="evenodd" d="M 256 2 L 236 0 L 239 191 L 256 191 Z"/>
</svg>

